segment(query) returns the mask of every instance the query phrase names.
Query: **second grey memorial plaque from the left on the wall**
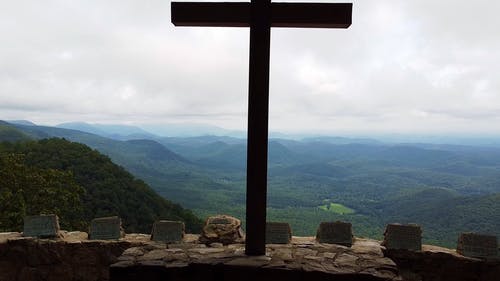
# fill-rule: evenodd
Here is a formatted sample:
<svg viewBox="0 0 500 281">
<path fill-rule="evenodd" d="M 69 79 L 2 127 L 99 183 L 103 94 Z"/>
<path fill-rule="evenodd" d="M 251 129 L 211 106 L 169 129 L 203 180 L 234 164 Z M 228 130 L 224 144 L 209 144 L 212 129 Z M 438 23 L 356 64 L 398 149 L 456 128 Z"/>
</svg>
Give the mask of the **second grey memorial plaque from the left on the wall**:
<svg viewBox="0 0 500 281">
<path fill-rule="evenodd" d="M 90 223 L 89 239 L 117 240 L 124 236 L 122 221 L 119 217 L 93 219 Z"/>
</svg>

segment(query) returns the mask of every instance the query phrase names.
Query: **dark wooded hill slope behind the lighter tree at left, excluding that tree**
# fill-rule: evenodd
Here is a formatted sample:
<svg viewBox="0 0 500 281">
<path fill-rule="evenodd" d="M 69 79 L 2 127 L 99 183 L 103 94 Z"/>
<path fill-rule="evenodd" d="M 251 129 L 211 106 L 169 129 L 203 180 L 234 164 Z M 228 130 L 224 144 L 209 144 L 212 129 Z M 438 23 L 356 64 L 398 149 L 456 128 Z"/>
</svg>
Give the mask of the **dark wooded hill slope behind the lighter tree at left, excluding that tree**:
<svg viewBox="0 0 500 281">
<path fill-rule="evenodd" d="M 84 189 L 80 199 L 85 222 L 118 215 L 127 232 L 149 233 L 158 219 L 182 220 L 188 231 L 201 230 L 201 220 L 191 211 L 160 197 L 142 180 L 86 145 L 56 138 L 17 145 L 3 143 L 0 154 L 22 155 L 28 167 L 71 173 Z"/>
</svg>

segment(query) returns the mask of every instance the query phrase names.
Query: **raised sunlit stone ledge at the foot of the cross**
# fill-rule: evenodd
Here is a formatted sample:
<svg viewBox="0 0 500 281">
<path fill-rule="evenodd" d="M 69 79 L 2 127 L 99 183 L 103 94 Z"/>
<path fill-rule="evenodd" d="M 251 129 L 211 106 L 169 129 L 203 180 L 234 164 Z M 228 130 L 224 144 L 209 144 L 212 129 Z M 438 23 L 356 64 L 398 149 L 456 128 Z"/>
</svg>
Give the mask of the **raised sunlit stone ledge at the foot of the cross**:
<svg viewBox="0 0 500 281">
<path fill-rule="evenodd" d="M 138 276 L 143 281 L 170 280 L 172 276 L 198 280 L 198 274 L 204 275 L 203 280 L 229 280 L 233 275 L 238 280 L 276 280 L 276 276 L 289 280 L 314 280 L 313 276 L 321 276 L 319 280 L 402 280 L 396 264 L 383 256 L 380 243 L 361 238 L 349 248 L 317 243 L 314 237 L 293 237 L 291 244 L 268 244 L 265 256 L 246 256 L 244 244 L 147 245 L 127 249 L 118 260 L 111 265 L 111 280 Z M 143 275 L 153 277 L 144 279 Z"/>
</svg>

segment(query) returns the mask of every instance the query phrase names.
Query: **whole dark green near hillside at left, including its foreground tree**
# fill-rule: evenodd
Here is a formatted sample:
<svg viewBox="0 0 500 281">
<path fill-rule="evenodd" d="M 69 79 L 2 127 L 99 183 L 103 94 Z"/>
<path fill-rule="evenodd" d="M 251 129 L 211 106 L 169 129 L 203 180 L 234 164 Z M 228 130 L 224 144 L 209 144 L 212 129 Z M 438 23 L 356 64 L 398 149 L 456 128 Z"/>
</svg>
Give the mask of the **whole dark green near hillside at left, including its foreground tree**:
<svg viewBox="0 0 500 281">
<path fill-rule="evenodd" d="M 95 217 L 119 215 L 127 232 L 149 233 L 153 221 L 157 219 L 182 220 L 186 223 L 188 231 L 200 230 L 201 220 L 191 211 L 160 197 L 146 183 L 113 164 L 109 157 L 86 145 L 64 139 L 43 139 L 14 144 L 4 142 L 0 145 L 0 155 L 2 172 L 11 175 L 1 179 L 3 197 L 0 198 L 5 201 L 10 198 L 7 195 L 23 197 L 19 199 L 20 204 L 18 204 L 19 208 L 26 207 L 20 212 L 23 215 L 41 211 L 56 212 L 61 216 L 63 226 L 71 229 L 84 227 Z M 12 182 L 18 181 L 18 178 L 12 178 L 12 175 L 16 174 L 12 171 L 19 170 L 19 167 L 26 171 L 24 174 L 17 173 L 25 183 L 33 177 L 39 178 L 40 182 L 44 183 L 40 185 L 40 189 L 43 190 L 37 190 L 36 186 L 32 186 L 36 183 L 28 184 L 29 190 L 23 190 L 26 186 L 24 184 L 12 185 Z M 50 180 L 47 175 L 53 176 L 55 185 L 46 184 Z M 48 189 L 55 188 L 54 186 L 58 187 L 55 190 Z M 60 195 L 60 190 L 66 190 L 70 196 Z M 56 197 L 57 200 L 51 199 L 51 203 L 47 202 L 47 206 L 36 209 L 30 206 L 45 204 L 43 198 L 47 196 L 33 196 L 32 192 L 45 192 L 59 197 Z M 2 206 L 6 206 L 4 204 Z M 61 206 L 67 204 L 74 206 L 75 209 L 81 207 L 80 213 L 71 214 L 78 218 L 72 218 L 72 221 L 66 220 L 67 212 L 72 208 Z M 14 207 L 0 211 L 12 213 Z M 79 221 L 75 222 L 75 219 Z M 22 226 L 22 220 L 18 223 Z"/>
</svg>

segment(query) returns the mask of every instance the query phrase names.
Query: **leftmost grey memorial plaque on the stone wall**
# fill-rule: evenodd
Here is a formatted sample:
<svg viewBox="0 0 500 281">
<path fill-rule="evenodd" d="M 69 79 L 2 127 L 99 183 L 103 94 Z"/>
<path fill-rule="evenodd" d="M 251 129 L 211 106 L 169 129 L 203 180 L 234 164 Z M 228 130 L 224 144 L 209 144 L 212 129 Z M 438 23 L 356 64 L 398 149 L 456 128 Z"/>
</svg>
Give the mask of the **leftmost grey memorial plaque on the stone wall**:
<svg viewBox="0 0 500 281">
<path fill-rule="evenodd" d="M 25 217 L 23 236 L 39 238 L 59 237 L 59 218 L 56 215 Z"/>
</svg>

